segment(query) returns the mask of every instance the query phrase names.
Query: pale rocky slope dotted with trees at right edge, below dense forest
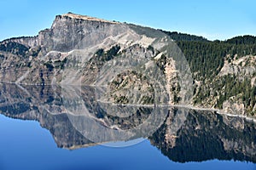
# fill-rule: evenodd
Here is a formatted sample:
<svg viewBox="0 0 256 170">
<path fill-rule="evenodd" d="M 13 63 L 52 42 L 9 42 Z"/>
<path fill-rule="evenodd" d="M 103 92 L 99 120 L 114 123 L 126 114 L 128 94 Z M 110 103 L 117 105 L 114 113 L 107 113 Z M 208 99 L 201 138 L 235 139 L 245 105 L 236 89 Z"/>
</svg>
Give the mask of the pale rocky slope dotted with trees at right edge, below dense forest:
<svg viewBox="0 0 256 170">
<path fill-rule="evenodd" d="M 205 82 L 196 82 L 195 98 L 200 91 L 205 92 L 199 107 L 218 108 L 223 112 L 255 117 L 256 99 L 256 56 L 249 54 L 237 57 L 227 56 L 216 77 Z M 220 104 L 221 103 L 221 104 Z"/>
</svg>

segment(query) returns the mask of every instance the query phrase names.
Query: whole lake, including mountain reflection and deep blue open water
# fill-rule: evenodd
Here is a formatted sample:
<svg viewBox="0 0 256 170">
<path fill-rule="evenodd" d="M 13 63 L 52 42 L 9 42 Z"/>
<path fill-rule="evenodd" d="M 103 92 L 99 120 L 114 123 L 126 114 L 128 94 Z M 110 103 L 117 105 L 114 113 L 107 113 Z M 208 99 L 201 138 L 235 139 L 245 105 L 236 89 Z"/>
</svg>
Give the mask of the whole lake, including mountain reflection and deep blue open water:
<svg viewBox="0 0 256 170">
<path fill-rule="evenodd" d="M 256 169 L 253 121 L 97 99 L 0 83 L 0 169 Z"/>
</svg>

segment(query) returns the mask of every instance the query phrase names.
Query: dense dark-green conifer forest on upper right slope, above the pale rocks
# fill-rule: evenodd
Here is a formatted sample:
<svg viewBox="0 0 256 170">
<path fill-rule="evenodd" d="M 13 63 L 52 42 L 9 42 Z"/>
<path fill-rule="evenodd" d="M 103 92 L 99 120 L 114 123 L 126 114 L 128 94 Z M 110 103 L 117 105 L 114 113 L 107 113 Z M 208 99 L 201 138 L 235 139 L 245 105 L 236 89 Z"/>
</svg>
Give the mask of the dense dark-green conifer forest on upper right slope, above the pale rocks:
<svg viewBox="0 0 256 170">
<path fill-rule="evenodd" d="M 224 58 L 230 54 L 234 59 L 248 54 L 256 55 L 256 37 L 234 37 L 227 41 L 207 41 L 206 38 L 189 34 L 163 31 L 177 42 L 189 62 L 195 79 L 215 77 L 224 65 Z"/>
</svg>

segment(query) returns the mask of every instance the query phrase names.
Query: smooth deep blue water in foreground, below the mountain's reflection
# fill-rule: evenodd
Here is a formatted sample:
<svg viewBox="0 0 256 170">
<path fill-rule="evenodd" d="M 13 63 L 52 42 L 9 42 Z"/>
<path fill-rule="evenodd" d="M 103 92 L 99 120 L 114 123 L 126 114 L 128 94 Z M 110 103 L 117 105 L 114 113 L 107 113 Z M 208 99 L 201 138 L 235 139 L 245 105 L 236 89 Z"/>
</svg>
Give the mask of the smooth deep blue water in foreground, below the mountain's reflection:
<svg viewBox="0 0 256 170">
<path fill-rule="evenodd" d="M 60 149 L 38 122 L 3 115 L 0 115 L 0 136 L 1 170 L 256 169 L 255 164 L 241 161 L 173 162 L 148 140 L 125 148 L 96 145 L 79 150 Z"/>
</svg>

